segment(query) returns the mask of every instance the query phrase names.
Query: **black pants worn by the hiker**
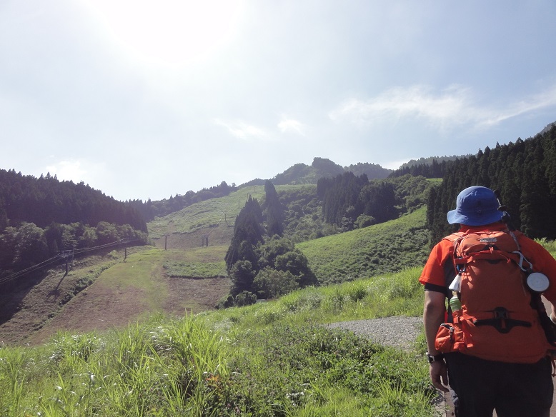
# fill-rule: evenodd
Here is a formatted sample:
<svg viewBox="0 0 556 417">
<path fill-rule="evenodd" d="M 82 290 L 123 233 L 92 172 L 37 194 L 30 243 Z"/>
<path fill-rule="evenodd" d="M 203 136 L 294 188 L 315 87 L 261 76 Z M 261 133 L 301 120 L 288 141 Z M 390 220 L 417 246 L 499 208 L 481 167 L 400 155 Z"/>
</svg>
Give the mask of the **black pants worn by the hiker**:
<svg viewBox="0 0 556 417">
<path fill-rule="evenodd" d="M 462 353 L 445 355 L 457 417 L 548 417 L 552 406 L 552 363 L 485 361 Z"/>
</svg>

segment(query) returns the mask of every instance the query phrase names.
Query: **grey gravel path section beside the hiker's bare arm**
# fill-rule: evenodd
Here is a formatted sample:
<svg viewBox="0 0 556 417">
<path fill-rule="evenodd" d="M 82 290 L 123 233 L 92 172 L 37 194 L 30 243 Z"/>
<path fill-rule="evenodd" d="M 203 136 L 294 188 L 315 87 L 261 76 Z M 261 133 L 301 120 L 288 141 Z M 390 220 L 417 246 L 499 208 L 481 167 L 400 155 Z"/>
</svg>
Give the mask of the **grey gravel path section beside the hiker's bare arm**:
<svg viewBox="0 0 556 417">
<path fill-rule="evenodd" d="M 329 328 L 344 328 L 385 346 L 411 349 L 421 332 L 421 317 L 392 316 L 368 320 L 339 321 Z"/>
</svg>

